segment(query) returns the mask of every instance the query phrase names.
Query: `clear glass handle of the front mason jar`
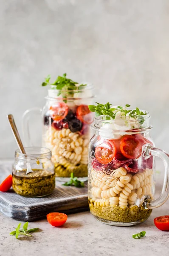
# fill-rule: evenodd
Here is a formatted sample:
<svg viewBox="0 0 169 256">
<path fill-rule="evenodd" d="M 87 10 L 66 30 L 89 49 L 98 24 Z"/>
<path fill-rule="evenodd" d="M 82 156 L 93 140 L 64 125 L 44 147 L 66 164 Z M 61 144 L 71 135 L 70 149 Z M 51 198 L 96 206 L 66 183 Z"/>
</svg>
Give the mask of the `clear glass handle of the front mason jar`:
<svg viewBox="0 0 169 256">
<path fill-rule="evenodd" d="M 161 191 L 161 195 L 155 199 L 146 199 L 144 201 L 144 205 L 148 209 L 154 209 L 157 207 L 160 207 L 162 204 L 164 204 L 167 199 L 169 198 L 169 154 L 167 154 L 165 151 L 152 147 L 150 145 L 145 146 L 143 150 L 144 157 L 159 157 L 164 164 L 164 181 L 163 181 L 163 188 Z"/>
</svg>

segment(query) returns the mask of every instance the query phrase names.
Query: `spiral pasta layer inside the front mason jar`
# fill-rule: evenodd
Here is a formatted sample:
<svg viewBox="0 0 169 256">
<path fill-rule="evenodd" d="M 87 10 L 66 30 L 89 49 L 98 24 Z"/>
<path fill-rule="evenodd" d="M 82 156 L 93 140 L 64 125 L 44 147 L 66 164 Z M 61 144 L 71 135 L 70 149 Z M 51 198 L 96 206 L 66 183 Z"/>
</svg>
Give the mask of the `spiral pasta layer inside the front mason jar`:
<svg viewBox="0 0 169 256">
<path fill-rule="evenodd" d="M 152 169 L 145 169 L 135 175 L 127 173 L 124 168 L 118 168 L 110 175 L 92 170 L 91 175 L 92 186 L 100 189 L 93 189 L 95 191 L 93 195 L 100 196 L 102 200 L 109 199 L 111 206 L 115 205 L 125 209 L 135 205 L 136 200 L 144 195 L 153 198 Z"/>
</svg>

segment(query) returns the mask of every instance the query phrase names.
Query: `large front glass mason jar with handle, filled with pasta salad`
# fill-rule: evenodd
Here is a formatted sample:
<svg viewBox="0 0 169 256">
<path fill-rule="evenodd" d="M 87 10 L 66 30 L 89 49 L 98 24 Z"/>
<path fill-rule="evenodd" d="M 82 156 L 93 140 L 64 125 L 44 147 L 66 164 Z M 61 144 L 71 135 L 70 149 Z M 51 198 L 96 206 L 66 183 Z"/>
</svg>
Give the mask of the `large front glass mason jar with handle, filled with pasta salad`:
<svg viewBox="0 0 169 256">
<path fill-rule="evenodd" d="M 149 113 L 132 120 L 127 116 L 106 118 L 95 117 L 92 126 L 95 135 L 89 145 L 90 212 L 110 225 L 139 224 L 169 197 L 169 155 L 155 148 L 149 135 Z M 165 167 L 163 189 L 157 199 L 155 157 L 160 157 Z"/>
</svg>

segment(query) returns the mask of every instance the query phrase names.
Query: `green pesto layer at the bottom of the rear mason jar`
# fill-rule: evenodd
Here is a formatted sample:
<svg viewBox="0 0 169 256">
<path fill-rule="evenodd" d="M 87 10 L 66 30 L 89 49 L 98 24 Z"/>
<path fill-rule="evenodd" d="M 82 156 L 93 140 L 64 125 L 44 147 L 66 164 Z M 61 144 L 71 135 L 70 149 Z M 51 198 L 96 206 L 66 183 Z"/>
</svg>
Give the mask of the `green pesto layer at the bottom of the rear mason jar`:
<svg viewBox="0 0 169 256">
<path fill-rule="evenodd" d="M 56 177 L 70 177 L 71 172 L 74 173 L 75 177 L 87 177 L 87 165 L 80 164 L 79 166 L 74 166 L 70 164 L 65 168 L 60 164 L 55 164 Z"/>
</svg>

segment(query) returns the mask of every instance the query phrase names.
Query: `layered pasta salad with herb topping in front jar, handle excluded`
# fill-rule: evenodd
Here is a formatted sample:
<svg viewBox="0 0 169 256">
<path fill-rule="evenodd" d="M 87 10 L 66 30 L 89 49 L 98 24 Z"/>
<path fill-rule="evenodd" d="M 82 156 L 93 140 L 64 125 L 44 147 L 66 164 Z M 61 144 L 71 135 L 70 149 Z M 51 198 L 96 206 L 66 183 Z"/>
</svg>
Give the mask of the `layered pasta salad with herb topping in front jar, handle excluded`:
<svg viewBox="0 0 169 256">
<path fill-rule="evenodd" d="M 107 221 L 135 222 L 149 217 L 144 200 L 153 198 L 153 157 L 144 157 L 152 145 L 146 111 L 130 105 L 90 105 L 96 113 L 96 134 L 89 146 L 89 206 Z"/>
</svg>

